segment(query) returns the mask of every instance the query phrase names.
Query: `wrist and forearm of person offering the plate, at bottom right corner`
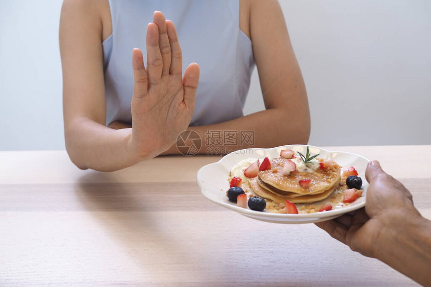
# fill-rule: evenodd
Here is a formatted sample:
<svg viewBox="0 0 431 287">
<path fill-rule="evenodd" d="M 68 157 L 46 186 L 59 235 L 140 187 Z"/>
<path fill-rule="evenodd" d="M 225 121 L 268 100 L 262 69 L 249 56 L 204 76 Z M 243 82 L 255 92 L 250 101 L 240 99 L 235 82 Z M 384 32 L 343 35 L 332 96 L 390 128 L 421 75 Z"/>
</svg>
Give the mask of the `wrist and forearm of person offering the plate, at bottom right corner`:
<svg viewBox="0 0 431 287">
<path fill-rule="evenodd" d="M 390 216 L 376 243 L 376 257 L 419 284 L 431 286 L 431 221 L 421 216 Z"/>
</svg>

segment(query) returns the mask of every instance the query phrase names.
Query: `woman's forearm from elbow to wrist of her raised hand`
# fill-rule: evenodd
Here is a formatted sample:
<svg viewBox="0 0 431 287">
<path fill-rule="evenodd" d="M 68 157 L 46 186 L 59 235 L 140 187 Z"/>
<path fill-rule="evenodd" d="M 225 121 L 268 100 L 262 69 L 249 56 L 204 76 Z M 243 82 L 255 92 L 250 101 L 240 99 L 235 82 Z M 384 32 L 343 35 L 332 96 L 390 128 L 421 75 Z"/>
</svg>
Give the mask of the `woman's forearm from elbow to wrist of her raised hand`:
<svg viewBox="0 0 431 287">
<path fill-rule="evenodd" d="M 65 126 L 66 149 L 81 169 L 115 171 L 141 159 L 131 148 L 132 129 L 111 129 L 90 119 L 76 119 Z"/>
</svg>

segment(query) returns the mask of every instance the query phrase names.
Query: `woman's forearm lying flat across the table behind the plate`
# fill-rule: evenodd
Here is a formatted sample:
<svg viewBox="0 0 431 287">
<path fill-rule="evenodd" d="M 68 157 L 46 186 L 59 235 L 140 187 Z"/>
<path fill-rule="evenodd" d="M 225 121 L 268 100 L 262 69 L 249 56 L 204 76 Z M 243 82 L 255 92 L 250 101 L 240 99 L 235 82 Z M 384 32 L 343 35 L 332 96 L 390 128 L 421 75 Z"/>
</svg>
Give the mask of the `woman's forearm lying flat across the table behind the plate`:
<svg viewBox="0 0 431 287">
<path fill-rule="evenodd" d="M 237 119 L 202 126 L 190 126 L 202 139 L 199 154 L 224 154 L 244 148 L 268 148 L 306 144 L 310 120 L 296 119 L 283 109 L 272 108 Z M 173 145 L 163 154 L 178 154 Z"/>
</svg>

